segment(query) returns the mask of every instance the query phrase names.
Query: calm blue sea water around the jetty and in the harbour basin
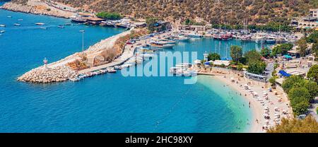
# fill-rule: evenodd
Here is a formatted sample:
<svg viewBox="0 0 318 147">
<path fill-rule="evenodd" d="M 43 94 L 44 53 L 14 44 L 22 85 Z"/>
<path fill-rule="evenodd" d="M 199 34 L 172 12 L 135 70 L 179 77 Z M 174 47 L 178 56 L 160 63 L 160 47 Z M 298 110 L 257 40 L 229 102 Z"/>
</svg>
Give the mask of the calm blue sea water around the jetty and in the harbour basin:
<svg viewBox="0 0 318 147">
<path fill-rule="evenodd" d="M 16 22 L 21 26 L 14 27 Z M 33 25 L 37 22 L 46 23 L 48 29 L 38 29 Z M 44 57 L 57 61 L 80 51 L 78 30 L 86 30 L 86 48 L 124 30 L 85 25 L 59 29 L 57 25 L 69 20 L 0 10 L 3 23 L 7 27 L 0 28 L 6 30 L 0 37 L 0 132 L 242 132 L 249 127 L 252 112 L 245 99 L 209 76 L 198 76 L 194 85 L 184 85 L 182 77 L 120 73 L 77 83 L 17 82 L 25 71 L 40 66 Z M 215 44 L 202 39 L 179 43 L 175 50 L 197 51 L 202 58 L 205 51 L 213 52 Z M 220 45 L 223 57 L 225 44 Z"/>
</svg>

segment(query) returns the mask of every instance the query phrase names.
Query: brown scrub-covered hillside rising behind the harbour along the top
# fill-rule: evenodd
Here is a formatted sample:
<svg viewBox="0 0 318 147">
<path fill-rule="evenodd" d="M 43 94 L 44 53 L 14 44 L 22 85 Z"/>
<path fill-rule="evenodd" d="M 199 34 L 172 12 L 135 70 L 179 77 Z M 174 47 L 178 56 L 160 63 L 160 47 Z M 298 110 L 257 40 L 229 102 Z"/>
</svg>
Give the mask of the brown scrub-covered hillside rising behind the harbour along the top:
<svg viewBox="0 0 318 147">
<path fill-rule="evenodd" d="M 27 1 L 27 0 L 12 0 Z M 289 18 L 305 16 L 318 8 L 318 0 L 54 0 L 84 11 L 108 11 L 122 15 L 158 17 L 165 20 L 204 20 L 207 23 L 264 24 L 289 23 Z"/>
</svg>

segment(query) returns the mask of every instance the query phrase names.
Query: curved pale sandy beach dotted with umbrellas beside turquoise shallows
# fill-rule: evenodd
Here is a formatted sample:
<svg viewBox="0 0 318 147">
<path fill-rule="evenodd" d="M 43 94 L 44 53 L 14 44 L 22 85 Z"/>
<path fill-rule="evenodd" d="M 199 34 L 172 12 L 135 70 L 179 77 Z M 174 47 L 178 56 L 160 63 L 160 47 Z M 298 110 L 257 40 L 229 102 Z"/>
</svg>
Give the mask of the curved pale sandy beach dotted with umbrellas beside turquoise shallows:
<svg viewBox="0 0 318 147">
<path fill-rule="evenodd" d="M 264 125 L 267 125 L 268 127 L 273 127 L 275 125 L 274 118 L 277 114 L 280 114 L 279 119 L 281 120 L 282 117 L 291 117 L 290 114 L 291 109 L 288 107 L 289 101 L 288 98 L 286 98 L 286 95 L 284 95 L 283 91 L 276 89 L 277 94 L 273 92 L 269 92 L 269 86 L 266 86 L 265 83 L 261 83 L 258 81 L 252 81 L 250 79 L 240 77 L 237 73 L 238 71 L 229 71 L 226 69 L 213 69 L 211 71 L 212 73 L 223 72 L 226 73 L 222 76 L 220 75 L 214 75 L 211 76 L 211 78 L 216 78 L 219 81 L 222 81 L 225 83 L 225 86 L 231 86 L 237 92 L 239 92 L 244 98 L 246 98 L 247 101 L 250 102 L 250 109 L 252 109 L 252 125 L 249 128 L 248 132 L 251 133 L 263 133 L 266 132 L 266 129 L 263 129 Z M 259 98 L 254 98 L 251 92 L 249 90 L 246 90 L 244 88 L 245 84 L 251 83 L 250 87 L 251 89 L 259 94 L 259 98 L 263 97 L 263 93 L 266 90 L 269 100 L 264 100 L 264 103 L 261 103 L 259 101 Z M 275 90 L 273 90 L 275 91 Z M 278 102 L 278 97 L 281 97 L 281 102 Z M 286 105 L 288 104 L 288 105 Z M 264 118 L 264 107 L 269 108 L 269 117 L 270 119 Z M 275 109 L 276 108 L 276 109 Z M 277 111 L 278 108 L 278 111 Z M 283 110 L 286 110 L 288 112 L 287 114 L 283 114 Z M 276 114 L 276 115 L 275 115 Z"/>
</svg>

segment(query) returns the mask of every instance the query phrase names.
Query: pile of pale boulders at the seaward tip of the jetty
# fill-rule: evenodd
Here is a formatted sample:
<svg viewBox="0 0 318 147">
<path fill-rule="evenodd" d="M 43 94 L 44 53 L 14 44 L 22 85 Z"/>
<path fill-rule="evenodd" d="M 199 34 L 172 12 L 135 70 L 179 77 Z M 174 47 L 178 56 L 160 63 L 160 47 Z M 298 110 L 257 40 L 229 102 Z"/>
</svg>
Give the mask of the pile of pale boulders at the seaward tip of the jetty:
<svg viewBox="0 0 318 147">
<path fill-rule="evenodd" d="M 37 69 L 32 69 L 22 76 L 18 77 L 18 81 L 30 83 L 52 83 L 67 81 L 70 78 L 76 78 L 78 75 L 69 66 L 57 66 L 54 68 L 45 68 L 41 66 Z"/>
</svg>

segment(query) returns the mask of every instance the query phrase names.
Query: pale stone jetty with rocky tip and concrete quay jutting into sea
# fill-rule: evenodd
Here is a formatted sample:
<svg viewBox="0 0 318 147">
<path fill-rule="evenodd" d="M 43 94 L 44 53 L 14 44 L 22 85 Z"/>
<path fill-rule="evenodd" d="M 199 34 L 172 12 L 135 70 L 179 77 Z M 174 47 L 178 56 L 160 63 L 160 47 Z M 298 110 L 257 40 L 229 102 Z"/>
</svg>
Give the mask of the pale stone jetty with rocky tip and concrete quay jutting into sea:
<svg viewBox="0 0 318 147">
<path fill-rule="evenodd" d="M 132 29 L 133 30 L 133 29 Z M 87 54 L 88 57 L 94 57 L 105 49 L 112 49 L 114 47 L 114 43 L 119 37 L 123 37 L 131 33 L 131 30 L 127 30 L 118 35 L 114 35 L 112 37 L 108 37 L 105 40 L 101 40 L 97 44 L 90 46 L 84 53 Z M 60 82 L 67 81 L 71 78 L 76 78 L 79 73 L 86 73 L 89 71 L 95 71 L 97 69 L 104 69 L 109 66 L 114 66 L 117 64 L 121 64 L 126 61 L 130 57 L 134 55 L 134 48 L 130 45 L 126 46 L 122 56 L 112 61 L 110 64 L 104 64 L 101 66 L 91 67 L 89 69 L 84 69 L 81 71 L 73 71 L 66 64 L 75 61 L 76 59 L 81 59 L 81 52 L 76 52 L 75 54 L 71 54 L 69 57 L 61 59 L 59 61 L 55 61 L 51 64 L 47 64 L 47 66 L 40 66 L 35 69 L 24 73 L 22 76 L 18 77 L 18 81 L 30 82 L 30 83 L 50 83 L 50 82 Z"/>
</svg>

